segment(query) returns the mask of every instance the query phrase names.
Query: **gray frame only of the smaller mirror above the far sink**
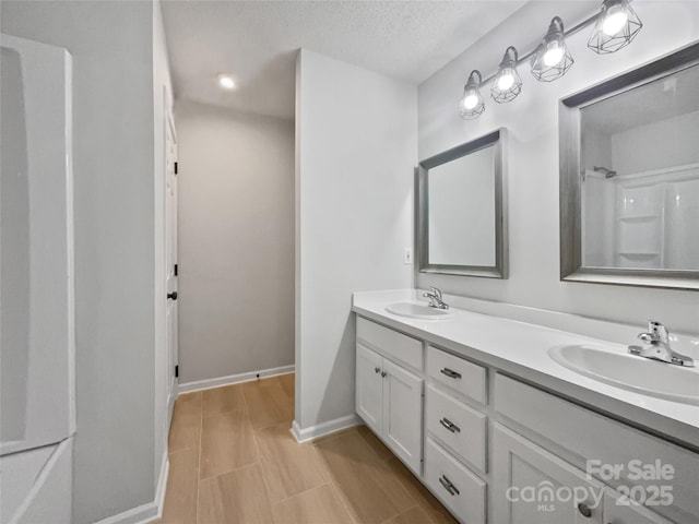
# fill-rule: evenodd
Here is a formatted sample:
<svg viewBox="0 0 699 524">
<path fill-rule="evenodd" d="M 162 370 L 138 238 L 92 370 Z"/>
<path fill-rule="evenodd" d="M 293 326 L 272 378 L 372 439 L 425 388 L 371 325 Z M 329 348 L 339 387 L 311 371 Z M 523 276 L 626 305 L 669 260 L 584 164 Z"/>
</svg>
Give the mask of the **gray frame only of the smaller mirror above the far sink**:
<svg viewBox="0 0 699 524">
<path fill-rule="evenodd" d="M 455 160 L 476 151 L 494 145 L 495 158 L 495 265 L 445 265 L 429 263 L 429 205 L 427 172 L 429 169 Z M 507 278 L 507 216 L 506 216 L 506 180 L 507 180 L 507 131 L 500 128 L 491 133 L 465 144 L 439 153 L 419 163 L 415 177 L 415 234 L 417 238 L 417 263 L 420 273 L 439 273 L 447 275 L 481 276 L 486 278 Z"/>
</svg>

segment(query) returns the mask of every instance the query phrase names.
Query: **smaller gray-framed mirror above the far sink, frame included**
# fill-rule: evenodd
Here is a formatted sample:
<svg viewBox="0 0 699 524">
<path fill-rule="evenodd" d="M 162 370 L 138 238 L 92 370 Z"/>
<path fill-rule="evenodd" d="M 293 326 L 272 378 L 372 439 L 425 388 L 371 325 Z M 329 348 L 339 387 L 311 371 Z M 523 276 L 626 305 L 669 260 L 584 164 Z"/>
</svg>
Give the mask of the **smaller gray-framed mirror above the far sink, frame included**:
<svg viewBox="0 0 699 524">
<path fill-rule="evenodd" d="M 505 141 L 499 129 L 419 163 L 420 272 L 507 278 Z"/>
</svg>

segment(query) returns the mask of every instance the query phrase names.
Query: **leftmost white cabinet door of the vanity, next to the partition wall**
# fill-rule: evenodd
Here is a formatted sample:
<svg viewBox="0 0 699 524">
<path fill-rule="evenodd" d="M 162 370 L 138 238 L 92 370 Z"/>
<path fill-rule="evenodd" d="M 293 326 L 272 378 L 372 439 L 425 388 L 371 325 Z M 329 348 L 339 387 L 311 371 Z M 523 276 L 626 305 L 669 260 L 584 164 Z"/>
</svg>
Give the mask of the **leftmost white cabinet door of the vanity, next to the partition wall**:
<svg viewBox="0 0 699 524">
<path fill-rule="evenodd" d="M 371 349 L 357 344 L 357 379 L 355 409 L 377 434 L 383 430 L 383 358 Z"/>
</svg>

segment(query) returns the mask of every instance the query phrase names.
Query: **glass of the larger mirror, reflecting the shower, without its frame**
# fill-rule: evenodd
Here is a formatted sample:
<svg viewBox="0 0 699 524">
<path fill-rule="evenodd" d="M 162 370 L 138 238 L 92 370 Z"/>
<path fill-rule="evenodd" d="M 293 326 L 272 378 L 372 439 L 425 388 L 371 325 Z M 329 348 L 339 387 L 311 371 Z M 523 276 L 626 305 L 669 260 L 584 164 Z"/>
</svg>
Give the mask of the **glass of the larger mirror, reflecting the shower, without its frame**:
<svg viewBox="0 0 699 524">
<path fill-rule="evenodd" d="M 698 84 L 694 66 L 580 110 L 584 266 L 699 270 Z"/>
</svg>

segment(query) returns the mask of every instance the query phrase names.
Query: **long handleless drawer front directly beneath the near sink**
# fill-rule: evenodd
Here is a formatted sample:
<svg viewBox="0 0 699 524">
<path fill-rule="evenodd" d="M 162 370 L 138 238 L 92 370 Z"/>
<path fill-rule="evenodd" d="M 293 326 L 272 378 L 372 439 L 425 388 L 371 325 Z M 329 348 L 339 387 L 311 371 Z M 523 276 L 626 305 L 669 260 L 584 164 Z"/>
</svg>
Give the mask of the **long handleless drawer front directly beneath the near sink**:
<svg viewBox="0 0 699 524">
<path fill-rule="evenodd" d="M 495 378 L 495 409 L 500 415 L 574 454 L 570 458 L 585 471 L 587 461 L 620 465 L 618 478 L 593 476 L 612 487 L 672 487 L 673 504 L 653 509 L 678 524 L 697 524 L 699 515 L 699 454 L 607 418 L 571 402 L 501 374 Z M 632 462 L 633 461 L 633 462 Z M 638 465 L 672 465 L 672 479 L 637 479 Z M 636 464 L 636 465 L 635 465 Z"/>
</svg>

